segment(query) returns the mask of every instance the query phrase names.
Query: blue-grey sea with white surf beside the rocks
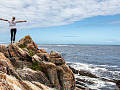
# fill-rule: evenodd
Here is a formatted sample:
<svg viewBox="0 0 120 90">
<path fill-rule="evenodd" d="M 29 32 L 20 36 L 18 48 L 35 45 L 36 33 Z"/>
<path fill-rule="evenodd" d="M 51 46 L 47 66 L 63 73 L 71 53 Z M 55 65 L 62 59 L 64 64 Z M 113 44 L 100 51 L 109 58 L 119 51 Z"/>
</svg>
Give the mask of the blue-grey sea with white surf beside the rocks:
<svg viewBox="0 0 120 90">
<path fill-rule="evenodd" d="M 77 70 L 86 70 L 106 79 L 120 79 L 120 46 L 119 45 L 38 45 L 48 53 L 59 52 L 67 64 Z M 75 75 L 75 78 L 93 81 L 87 86 L 95 90 L 115 90 L 113 82 L 102 81 L 100 78 Z"/>
</svg>

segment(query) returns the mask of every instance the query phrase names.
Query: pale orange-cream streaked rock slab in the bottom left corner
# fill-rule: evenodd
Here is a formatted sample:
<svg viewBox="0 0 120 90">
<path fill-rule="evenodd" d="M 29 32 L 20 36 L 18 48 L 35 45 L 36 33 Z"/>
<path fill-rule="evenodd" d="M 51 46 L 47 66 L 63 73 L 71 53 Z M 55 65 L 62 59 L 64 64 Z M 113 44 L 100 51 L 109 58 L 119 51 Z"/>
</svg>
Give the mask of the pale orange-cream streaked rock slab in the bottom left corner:
<svg viewBox="0 0 120 90">
<path fill-rule="evenodd" d="M 0 73 L 0 90 L 55 90 L 35 81 L 18 80 L 11 75 Z"/>
</svg>

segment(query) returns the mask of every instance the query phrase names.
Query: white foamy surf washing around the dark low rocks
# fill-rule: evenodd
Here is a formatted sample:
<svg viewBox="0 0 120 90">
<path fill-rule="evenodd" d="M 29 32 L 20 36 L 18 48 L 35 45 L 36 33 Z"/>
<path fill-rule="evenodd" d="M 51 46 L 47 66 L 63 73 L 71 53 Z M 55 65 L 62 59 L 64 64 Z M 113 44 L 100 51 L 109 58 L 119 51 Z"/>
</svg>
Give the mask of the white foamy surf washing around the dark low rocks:
<svg viewBox="0 0 120 90">
<path fill-rule="evenodd" d="M 114 71 L 114 72 L 108 71 L 108 69 L 105 68 L 107 65 L 104 65 L 104 68 L 101 68 L 101 67 L 98 67 L 98 66 L 92 65 L 92 64 L 89 65 L 89 64 L 83 64 L 83 63 L 71 63 L 71 62 L 67 62 L 67 64 L 70 65 L 71 67 L 75 68 L 76 70 L 89 71 L 90 73 L 100 77 L 100 78 L 90 78 L 88 76 L 81 76 L 79 74 L 75 75 L 75 78 L 80 78 L 83 80 L 94 82 L 94 84 L 92 84 L 92 85 L 87 84 L 87 86 L 90 87 L 91 89 L 113 90 L 113 88 L 115 88 L 116 84 L 113 82 L 103 81 L 101 79 L 101 77 L 106 78 L 108 80 L 110 80 L 110 77 L 102 76 L 102 74 L 106 73 L 106 72 L 113 74 L 113 76 L 120 74 L 119 71 Z"/>
</svg>

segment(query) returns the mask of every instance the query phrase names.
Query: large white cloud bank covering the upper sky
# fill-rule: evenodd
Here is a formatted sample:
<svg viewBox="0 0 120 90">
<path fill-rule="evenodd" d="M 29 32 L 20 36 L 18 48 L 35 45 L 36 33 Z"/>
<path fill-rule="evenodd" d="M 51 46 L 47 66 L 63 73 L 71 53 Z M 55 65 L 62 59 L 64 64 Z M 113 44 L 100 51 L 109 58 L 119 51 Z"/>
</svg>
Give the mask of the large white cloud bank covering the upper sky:
<svg viewBox="0 0 120 90">
<path fill-rule="evenodd" d="M 27 20 L 18 25 L 19 30 L 60 26 L 88 17 L 120 14 L 119 3 L 120 0 L 0 0 L 0 18 Z M 8 30 L 8 23 L 0 21 L 0 33 Z"/>
</svg>

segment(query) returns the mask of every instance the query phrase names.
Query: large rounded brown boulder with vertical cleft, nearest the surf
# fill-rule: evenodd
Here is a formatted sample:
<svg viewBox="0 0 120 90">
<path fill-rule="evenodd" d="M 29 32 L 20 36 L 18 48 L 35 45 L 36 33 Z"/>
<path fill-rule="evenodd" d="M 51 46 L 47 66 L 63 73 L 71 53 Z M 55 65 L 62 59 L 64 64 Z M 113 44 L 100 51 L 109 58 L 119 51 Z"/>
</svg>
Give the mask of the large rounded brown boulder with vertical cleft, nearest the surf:
<svg viewBox="0 0 120 90">
<path fill-rule="evenodd" d="M 45 75 L 47 75 L 53 87 L 57 88 L 58 90 L 74 89 L 74 74 L 66 64 L 56 66 L 51 62 L 41 61 L 40 66 Z"/>
</svg>

